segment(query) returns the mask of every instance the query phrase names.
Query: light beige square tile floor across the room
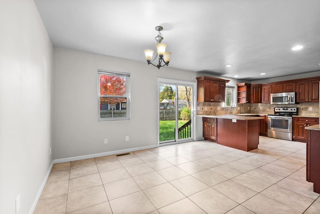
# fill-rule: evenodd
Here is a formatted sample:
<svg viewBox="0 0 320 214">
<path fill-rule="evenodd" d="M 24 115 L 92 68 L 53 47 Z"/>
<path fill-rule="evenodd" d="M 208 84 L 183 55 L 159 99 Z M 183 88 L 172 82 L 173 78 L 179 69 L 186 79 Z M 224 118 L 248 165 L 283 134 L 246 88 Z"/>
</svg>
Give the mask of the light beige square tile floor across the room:
<svg viewBox="0 0 320 214">
<path fill-rule="evenodd" d="M 320 213 L 305 143 L 209 141 L 54 164 L 34 213 Z"/>
</svg>

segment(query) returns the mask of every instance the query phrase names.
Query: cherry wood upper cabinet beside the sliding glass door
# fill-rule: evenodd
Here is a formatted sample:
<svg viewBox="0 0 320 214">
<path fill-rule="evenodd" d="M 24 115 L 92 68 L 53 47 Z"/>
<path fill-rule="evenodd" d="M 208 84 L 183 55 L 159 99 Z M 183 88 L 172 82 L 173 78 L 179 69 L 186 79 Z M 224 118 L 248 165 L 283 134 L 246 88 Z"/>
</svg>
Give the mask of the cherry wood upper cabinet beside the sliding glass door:
<svg viewBox="0 0 320 214">
<path fill-rule="evenodd" d="M 197 77 L 197 102 L 225 102 L 225 83 L 213 77 Z"/>
</svg>

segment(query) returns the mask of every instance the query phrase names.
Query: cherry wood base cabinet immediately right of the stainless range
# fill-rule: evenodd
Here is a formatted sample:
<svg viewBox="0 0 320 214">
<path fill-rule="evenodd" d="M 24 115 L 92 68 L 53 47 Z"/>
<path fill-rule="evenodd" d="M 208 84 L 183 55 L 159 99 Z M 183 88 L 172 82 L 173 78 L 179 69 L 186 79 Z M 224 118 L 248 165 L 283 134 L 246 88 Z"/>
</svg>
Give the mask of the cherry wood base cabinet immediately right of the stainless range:
<svg viewBox="0 0 320 214">
<path fill-rule="evenodd" d="M 319 124 L 319 118 L 312 117 L 293 117 L 293 141 L 304 142 L 307 141 L 306 126 L 313 126 Z"/>
</svg>

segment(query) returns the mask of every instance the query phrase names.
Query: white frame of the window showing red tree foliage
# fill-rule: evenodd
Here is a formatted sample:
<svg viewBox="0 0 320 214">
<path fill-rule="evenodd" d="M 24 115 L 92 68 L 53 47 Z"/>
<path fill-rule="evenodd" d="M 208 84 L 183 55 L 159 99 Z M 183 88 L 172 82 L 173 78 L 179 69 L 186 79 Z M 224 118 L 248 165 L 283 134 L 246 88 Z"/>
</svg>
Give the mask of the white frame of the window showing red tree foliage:
<svg viewBox="0 0 320 214">
<path fill-rule="evenodd" d="M 100 75 L 118 76 L 125 78 L 125 95 L 113 96 L 113 95 L 100 95 Z M 130 120 L 130 73 L 122 73 L 115 71 L 98 70 L 97 71 L 97 100 L 98 100 L 98 121 L 120 121 Z M 126 117 L 100 117 L 100 97 L 110 98 L 126 98 Z"/>
</svg>

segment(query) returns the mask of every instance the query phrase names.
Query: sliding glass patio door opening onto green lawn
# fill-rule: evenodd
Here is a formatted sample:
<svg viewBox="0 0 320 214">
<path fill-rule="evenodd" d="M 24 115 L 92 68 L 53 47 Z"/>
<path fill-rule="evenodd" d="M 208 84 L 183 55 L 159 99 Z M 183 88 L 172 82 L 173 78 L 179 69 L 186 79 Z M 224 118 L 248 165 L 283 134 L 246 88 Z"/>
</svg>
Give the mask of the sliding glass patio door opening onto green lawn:
<svg viewBox="0 0 320 214">
<path fill-rule="evenodd" d="M 158 79 L 159 144 L 194 138 L 194 88 L 194 82 Z"/>
</svg>

